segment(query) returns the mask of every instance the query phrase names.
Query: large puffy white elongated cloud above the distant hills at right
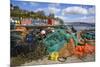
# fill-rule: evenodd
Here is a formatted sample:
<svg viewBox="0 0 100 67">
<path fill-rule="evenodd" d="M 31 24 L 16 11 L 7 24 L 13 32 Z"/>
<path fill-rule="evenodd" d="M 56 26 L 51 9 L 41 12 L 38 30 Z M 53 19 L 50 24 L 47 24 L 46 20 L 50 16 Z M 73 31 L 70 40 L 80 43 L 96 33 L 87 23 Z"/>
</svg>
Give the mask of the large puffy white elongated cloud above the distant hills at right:
<svg viewBox="0 0 100 67">
<path fill-rule="evenodd" d="M 74 14 L 74 15 L 75 14 L 83 14 L 83 15 L 86 15 L 86 14 L 88 14 L 88 11 L 85 8 L 74 6 L 74 7 L 67 7 L 65 9 L 63 9 L 62 14 L 63 15 L 67 15 L 67 14 Z"/>
</svg>

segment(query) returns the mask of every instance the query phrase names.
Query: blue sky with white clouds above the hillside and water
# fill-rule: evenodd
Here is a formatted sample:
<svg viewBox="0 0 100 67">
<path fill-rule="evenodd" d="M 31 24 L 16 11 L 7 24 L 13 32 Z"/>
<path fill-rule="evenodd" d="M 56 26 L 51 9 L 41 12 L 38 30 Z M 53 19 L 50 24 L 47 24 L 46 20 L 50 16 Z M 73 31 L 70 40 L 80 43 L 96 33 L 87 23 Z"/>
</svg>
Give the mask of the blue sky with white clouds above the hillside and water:
<svg viewBox="0 0 100 67">
<path fill-rule="evenodd" d="M 47 3 L 34 1 L 15 1 L 11 4 L 28 11 L 44 11 L 45 15 L 55 14 L 55 17 L 63 19 L 65 22 L 95 22 L 95 6 L 81 4 Z"/>
</svg>

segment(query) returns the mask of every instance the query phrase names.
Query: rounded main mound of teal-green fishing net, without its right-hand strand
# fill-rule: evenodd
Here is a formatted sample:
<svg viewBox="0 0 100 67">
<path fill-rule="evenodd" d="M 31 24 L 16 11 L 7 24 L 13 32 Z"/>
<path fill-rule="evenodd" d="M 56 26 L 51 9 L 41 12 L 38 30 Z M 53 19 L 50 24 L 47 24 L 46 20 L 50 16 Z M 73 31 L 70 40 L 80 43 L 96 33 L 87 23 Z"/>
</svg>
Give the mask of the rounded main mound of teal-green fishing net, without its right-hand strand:
<svg viewBox="0 0 100 67">
<path fill-rule="evenodd" d="M 47 47 L 48 52 L 59 51 L 64 43 L 67 43 L 65 37 L 65 32 L 61 29 L 55 30 L 55 32 L 49 34 L 47 38 L 44 39 L 44 44 Z"/>
</svg>

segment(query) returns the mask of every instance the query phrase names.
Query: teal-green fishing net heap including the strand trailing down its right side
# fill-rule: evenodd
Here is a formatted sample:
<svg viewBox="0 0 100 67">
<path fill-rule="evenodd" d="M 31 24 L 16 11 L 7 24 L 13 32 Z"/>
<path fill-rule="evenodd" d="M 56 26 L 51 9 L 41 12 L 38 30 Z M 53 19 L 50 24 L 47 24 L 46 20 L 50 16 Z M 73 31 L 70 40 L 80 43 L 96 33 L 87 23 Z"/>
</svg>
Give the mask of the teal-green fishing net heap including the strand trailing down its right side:
<svg viewBox="0 0 100 67">
<path fill-rule="evenodd" d="M 43 42 L 49 53 L 58 52 L 64 44 L 69 42 L 70 38 L 73 38 L 77 45 L 78 39 L 75 35 L 66 33 L 64 29 L 56 29 L 55 32 L 48 34 Z"/>
</svg>

